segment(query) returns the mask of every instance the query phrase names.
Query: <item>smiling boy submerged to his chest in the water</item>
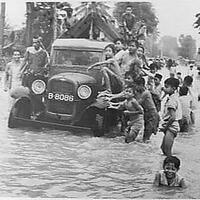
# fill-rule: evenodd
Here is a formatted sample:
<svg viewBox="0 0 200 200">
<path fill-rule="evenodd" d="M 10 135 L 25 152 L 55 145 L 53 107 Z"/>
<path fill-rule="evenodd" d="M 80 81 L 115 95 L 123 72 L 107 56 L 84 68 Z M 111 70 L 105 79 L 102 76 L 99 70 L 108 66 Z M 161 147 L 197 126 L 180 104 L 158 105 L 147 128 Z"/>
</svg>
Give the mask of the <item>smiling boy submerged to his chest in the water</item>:
<svg viewBox="0 0 200 200">
<path fill-rule="evenodd" d="M 185 181 L 177 173 L 180 169 L 180 160 L 176 156 L 168 156 L 163 161 L 163 170 L 155 175 L 155 186 L 169 186 L 186 188 Z"/>
</svg>

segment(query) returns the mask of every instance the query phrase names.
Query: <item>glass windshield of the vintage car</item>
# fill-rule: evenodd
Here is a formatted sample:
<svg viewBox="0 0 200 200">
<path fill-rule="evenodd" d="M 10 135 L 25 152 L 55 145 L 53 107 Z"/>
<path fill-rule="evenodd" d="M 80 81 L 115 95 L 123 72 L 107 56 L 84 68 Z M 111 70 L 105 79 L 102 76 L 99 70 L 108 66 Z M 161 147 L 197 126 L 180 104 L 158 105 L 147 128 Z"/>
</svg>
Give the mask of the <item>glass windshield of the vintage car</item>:
<svg viewBox="0 0 200 200">
<path fill-rule="evenodd" d="M 55 50 L 53 56 L 54 65 L 92 65 L 101 61 L 102 52 Z"/>
</svg>

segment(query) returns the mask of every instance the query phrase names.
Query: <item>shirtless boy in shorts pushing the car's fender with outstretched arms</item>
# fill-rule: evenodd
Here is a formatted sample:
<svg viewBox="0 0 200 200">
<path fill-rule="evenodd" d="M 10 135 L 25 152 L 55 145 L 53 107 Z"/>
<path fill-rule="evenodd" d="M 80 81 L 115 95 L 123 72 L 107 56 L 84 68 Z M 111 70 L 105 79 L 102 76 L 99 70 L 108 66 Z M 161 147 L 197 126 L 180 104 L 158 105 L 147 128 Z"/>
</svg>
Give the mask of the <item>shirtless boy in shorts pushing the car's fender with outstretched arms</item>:
<svg viewBox="0 0 200 200">
<path fill-rule="evenodd" d="M 125 89 L 126 100 L 120 103 L 110 103 L 110 107 L 124 110 L 127 126 L 125 128 L 125 142 L 130 143 L 136 139 L 144 127 L 144 112 L 142 106 L 134 98 L 133 86 Z"/>
</svg>

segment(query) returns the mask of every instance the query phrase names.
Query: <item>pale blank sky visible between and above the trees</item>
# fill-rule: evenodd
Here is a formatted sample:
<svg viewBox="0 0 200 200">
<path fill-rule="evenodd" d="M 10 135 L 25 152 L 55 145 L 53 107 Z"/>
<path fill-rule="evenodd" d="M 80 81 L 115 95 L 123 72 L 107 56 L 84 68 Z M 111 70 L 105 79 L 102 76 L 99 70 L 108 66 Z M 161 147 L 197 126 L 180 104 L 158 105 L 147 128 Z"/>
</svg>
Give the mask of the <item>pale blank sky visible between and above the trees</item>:
<svg viewBox="0 0 200 200">
<path fill-rule="evenodd" d="M 0 0 L 1 1 L 1 0 Z M 49 0 L 51 1 L 51 0 Z M 67 1 L 67 0 L 66 0 Z M 142 0 L 133 0 L 142 1 Z M 143 0 L 144 1 L 144 0 Z M 159 19 L 158 29 L 160 36 L 171 35 L 178 37 L 180 34 L 192 35 L 200 44 L 200 34 L 193 28 L 195 14 L 200 13 L 200 0 L 147 0 L 152 2 Z M 72 6 L 80 1 L 68 1 Z M 116 1 L 105 1 L 114 5 Z M 6 0 L 6 19 L 17 29 L 25 23 L 25 0 Z"/>
</svg>

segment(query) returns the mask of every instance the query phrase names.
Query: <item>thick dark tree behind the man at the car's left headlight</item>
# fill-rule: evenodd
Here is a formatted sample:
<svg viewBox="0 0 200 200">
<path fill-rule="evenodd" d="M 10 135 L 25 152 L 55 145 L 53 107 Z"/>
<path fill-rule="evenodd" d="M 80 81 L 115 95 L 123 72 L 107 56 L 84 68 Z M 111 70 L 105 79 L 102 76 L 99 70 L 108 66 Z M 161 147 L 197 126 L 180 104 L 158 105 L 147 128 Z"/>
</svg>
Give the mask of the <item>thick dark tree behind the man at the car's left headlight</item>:
<svg viewBox="0 0 200 200">
<path fill-rule="evenodd" d="M 55 20 L 56 17 L 58 17 L 55 12 L 65 10 L 66 7 L 71 7 L 70 4 L 67 2 L 27 2 L 26 6 L 27 46 L 32 43 L 32 38 L 34 36 L 41 36 L 44 46 L 49 49 L 54 40 L 54 34 L 59 30 L 59 27 L 55 26 Z M 56 31 L 54 29 L 56 29 Z"/>
</svg>

